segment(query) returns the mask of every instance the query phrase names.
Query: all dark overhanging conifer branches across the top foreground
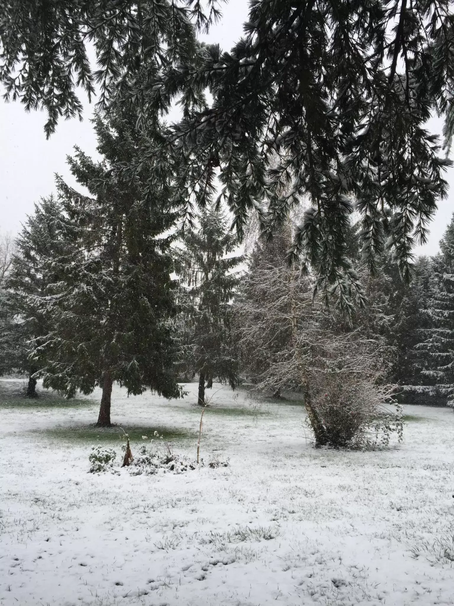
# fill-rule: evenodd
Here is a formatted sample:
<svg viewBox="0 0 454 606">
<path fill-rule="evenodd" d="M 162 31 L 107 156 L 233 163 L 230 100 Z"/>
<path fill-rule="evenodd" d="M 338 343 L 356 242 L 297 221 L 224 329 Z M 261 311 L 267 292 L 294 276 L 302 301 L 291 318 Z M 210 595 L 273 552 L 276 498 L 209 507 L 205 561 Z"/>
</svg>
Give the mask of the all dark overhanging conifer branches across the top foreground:
<svg viewBox="0 0 454 606">
<path fill-rule="evenodd" d="M 318 286 L 340 292 L 341 301 L 357 286 L 346 255 L 357 208 L 370 271 L 391 250 L 409 279 L 412 247 L 426 241 L 447 190 L 450 163 L 438 157 L 425 123 L 432 113 L 444 116 L 450 141 L 450 1 L 253 0 L 230 52 L 197 41 L 217 16 L 215 0 L 206 14 L 196 0 L 7 0 L 0 81 L 7 98 L 47 109 L 47 133 L 60 115 L 81 112 L 76 85 L 91 95 L 97 82 L 102 111 L 111 102 L 137 104 L 139 123 L 147 115 L 157 125 L 178 99 L 182 119 L 161 125 L 160 138 L 128 167 L 150 161 L 150 190 L 164 162 L 175 201 L 190 210 L 217 195 L 219 176 L 240 235 L 251 212 L 271 231 L 308 198 L 290 257 L 300 255 Z"/>
</svg>

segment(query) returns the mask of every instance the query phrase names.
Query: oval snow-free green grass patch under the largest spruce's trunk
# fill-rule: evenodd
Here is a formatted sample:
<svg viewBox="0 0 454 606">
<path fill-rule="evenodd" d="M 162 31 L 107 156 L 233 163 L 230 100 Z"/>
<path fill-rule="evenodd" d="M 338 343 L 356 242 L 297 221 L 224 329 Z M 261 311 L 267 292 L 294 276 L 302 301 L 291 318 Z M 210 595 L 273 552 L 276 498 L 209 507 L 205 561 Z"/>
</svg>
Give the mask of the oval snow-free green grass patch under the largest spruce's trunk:
<svg viewBox="0 0 454 606">
<path fill-rule="evenodd" d="M 74 425 L 73 427 L 51 427 L 45 430 L 36 430 L 47 438 L 68 443 L 81 444 L 120 444 L 123 441 L 123 431 L 130 436 L 131 446 L 133 443 L 148 442 L 154 438 L 157 431 L 168 442 L 181 442 L 186 439 L 196 439 L 197 432 L 188 431 L 178 427 L 164 427 L 160 425 L 115 425 L 114 427 L 95 427 L 95 425 Z M 147 436 L 148 440 L 143 440 Z"/>
</svg>

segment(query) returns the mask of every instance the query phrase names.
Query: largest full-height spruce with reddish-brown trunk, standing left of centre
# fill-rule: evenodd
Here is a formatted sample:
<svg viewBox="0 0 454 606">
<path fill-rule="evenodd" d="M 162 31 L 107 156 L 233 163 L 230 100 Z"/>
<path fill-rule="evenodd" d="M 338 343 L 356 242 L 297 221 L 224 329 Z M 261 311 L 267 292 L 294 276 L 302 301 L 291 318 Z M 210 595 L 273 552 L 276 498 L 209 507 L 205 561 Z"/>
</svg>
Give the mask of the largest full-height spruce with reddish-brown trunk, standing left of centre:
<svg viewBox="0 0 454 606">
<path fill-rule="evenodd" d="M 135 117 L 111 113 L 97 118 L 95 130 L 102 162 L 76 149 L 71 172 L 91 196 L 58 178 L 65 230 L 62 254 L 49 259 L 56 281 L 36 296 L 51 318 L 51 330 L 35 339 L 32 361 L 44 387 L 68 397 L 102 388 L 97 424 L 111 424 L 115 381 L 128 393 L 146 388 L 168 398 L 180 389 L 173 374 L 174 345 L 169 318 L 174 313 L 171 236 L 164 233 L 176 215 L 162 191 L 143 199 L 147 173 L 134 182 L 112 176 L 113 167 L 136 158 L 141 140 Z"/>
</svg>

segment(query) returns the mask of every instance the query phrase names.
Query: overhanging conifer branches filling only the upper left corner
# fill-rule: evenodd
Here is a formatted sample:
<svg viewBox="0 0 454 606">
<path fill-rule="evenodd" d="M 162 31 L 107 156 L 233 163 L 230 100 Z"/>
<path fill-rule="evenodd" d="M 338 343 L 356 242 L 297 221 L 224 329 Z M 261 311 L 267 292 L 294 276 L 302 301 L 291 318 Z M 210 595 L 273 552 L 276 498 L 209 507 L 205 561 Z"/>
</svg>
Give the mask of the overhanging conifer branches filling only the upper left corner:
<svg viewBox="0 0 454 606">
<path fill-rule="evenodd" d="M 0 81 L 7 100 L 42 108 L 45 133 L 63 117 L 82 119 L 77 87 L 104 112 L 116 99 L 140 101 L 159 74 L 186 64 L 197 51 L 196 32 L 219 17 L 216 0 L 5 0 L 0 12 Z M 96 70 L 87 52 L 96 52 Z M 139 92 L 139 90 L 141 92 Z M 137 99 L 137 94 L 139 99 Z"/>
</svg>

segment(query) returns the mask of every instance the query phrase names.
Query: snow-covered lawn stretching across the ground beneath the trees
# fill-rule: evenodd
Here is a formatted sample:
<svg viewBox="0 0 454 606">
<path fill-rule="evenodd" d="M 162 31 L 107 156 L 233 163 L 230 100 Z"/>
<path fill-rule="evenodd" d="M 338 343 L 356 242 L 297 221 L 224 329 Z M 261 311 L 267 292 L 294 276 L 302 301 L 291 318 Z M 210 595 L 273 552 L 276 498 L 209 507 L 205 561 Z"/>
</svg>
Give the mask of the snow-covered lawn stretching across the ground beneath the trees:
<svg viewBox="0 0 454 606">
<path fill-rule="evenodd" d="M 194 460 L 187 387 L 171 402 L 114 387 L 113 422 L 189 431 L 173 448 Z M 96 422 L 99 391 L 93 406 L 2 404 L 13 388 L 0 383 L 2 606 L 454 604 L 452 409 L 404 407 L 404 442 L 386 451 L 315 450 L 300 405 L 223 387 L 203 467 L 133 476 L 118 440 L 119 473 L 91 474 L 96 440 L 66 428 Z"/>
</svg>

